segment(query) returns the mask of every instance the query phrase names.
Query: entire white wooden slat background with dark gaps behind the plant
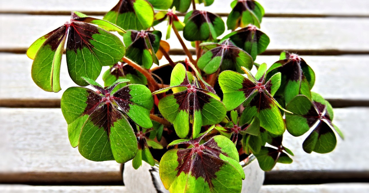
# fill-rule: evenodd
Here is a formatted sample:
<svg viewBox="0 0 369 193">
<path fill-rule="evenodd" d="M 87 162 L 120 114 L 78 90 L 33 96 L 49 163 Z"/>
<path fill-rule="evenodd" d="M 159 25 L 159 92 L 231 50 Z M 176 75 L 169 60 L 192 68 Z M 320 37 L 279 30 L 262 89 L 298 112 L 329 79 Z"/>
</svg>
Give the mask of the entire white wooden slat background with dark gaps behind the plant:
<svg viewBox="0 0 369 193">
<path fill-rule="evenodd" d="M 117 1 L 1 0 L 0 192 L 124 192 L 120 164 L 86 160 L 69 144 L 60 98 L 75 84 L 65 57 L 63 90 L 47 93 L 32 81 L 32 60 L 25 55 L 38 37 L 69 21 L 70 11 L 102 18 Z M 215 0 L 197 9 L 226 20 L 231 2 Z M 332 153 L 307 154 L 301 148 L 306 135 L 286 133 L 284 145 L 294 152 L 294 162 L 266 172 L 261 192 L 369 192 L 369 1 L 258 2 L 265 8 L 261 30 L 270 44 L 256 62 L 270 67 L 281 51 L 299 54 L 315 71 L 313 91 L 331 102 L 334 122 L 345 135 Z M 165 32 L 165 25 L 155 29 Z M 183 60 L 176 37 L 168 42 L 173 60 Z"/>
</svg>

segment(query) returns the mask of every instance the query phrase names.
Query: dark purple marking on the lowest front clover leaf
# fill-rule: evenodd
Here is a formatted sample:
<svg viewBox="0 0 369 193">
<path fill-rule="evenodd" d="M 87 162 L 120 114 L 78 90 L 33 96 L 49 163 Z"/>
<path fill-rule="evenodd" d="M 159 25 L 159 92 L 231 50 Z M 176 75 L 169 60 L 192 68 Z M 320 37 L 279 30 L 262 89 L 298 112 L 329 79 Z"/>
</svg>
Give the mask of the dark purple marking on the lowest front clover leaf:
<svg viewBox="0 0 369 193">
<path fill-rule="evenodd" d="M 177 161 L 179 163 L 176 168 L 178 171 L 177 176 L 182 172 L 185 174 L 191 173 L 196 179 L 199 177 L 204 178 L 205 182 L 212 188 L 214 185 L 211 181 L 217 177 L 215 173 L 224 164 L 224 161 L 219 157 L 221 150 L 214 139 L 210 139 L 204 144 L 199 144 L 201 139 L 198 139 L 187 142 L 193 144 L 193 148 L 179 149 L 177 151 Z"/>
</svg>

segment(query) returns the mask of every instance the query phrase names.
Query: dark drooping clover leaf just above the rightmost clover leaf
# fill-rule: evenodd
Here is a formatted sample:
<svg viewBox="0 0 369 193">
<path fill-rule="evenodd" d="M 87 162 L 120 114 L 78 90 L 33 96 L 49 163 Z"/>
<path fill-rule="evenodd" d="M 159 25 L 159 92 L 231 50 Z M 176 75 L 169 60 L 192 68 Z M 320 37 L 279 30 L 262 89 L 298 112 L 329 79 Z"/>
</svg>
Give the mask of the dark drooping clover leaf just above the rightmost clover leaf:
<svg viewBox="0 0 369 193">
<path fill-rule="evenodd" d="M 280 60 L 268 69 L 267 78 L 277 72 L 281 73 L 282 81 L 276 95 L 282 97 L 286 104 L 299 94 L 311 99 L 310 90 L 314 86 L 315 74 L 303 58 L 297 54 L 282 52 Z"/>
</svg>

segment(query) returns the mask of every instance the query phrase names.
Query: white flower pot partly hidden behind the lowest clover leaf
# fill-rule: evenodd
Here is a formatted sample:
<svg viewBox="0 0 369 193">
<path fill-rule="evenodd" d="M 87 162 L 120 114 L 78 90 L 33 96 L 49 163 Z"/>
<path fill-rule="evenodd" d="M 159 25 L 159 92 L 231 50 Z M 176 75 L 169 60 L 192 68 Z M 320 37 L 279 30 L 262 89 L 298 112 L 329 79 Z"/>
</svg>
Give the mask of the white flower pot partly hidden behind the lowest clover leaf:
<svg viewBox="0 0 369 193">
<path fill-rule="evenodd" d="M 260 169 L 254 156 L 241 161 L 246 178 L 242 182 L 241 193 L 258 193 L 264 182 L 264 171 Z M 124 164 L 123 181 L 130 193 L 169 193 L 159 177 L 159 167 L 152 167 L 142 161 L 137 170 L 132 167 L 132 161 Z"/>
</svg>

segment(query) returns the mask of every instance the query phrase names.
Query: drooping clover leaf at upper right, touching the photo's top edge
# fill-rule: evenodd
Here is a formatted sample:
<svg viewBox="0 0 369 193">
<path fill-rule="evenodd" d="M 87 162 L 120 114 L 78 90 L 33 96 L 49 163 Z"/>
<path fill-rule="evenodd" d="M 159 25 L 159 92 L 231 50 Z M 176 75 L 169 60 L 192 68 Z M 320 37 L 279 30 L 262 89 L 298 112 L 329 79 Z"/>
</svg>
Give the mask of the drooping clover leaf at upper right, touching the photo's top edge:
<svg viewBox="0 0 369 193">
<path fill-rule="evenodd" d="M 244 28 L 249 24 L 260 28 L 264 8 L 254 0 L 235 0 L 231 3 L 232 11 L 227 18 L 228 29 Z"/>
</svg>

